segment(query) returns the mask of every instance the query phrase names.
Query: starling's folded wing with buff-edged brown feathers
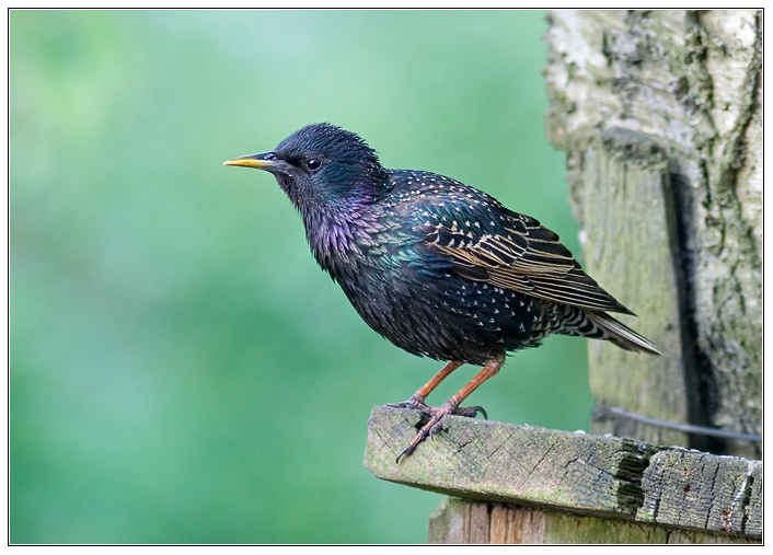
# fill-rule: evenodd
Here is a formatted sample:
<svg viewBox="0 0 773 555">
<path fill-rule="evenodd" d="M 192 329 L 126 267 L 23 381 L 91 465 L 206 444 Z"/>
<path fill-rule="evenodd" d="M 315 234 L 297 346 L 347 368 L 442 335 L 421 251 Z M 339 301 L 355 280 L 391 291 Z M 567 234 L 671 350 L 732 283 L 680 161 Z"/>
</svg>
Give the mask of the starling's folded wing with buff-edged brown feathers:
<svg viewBox="0 0 773 555">
<path fill-rule="evenodd" d="M 477 218 L 425 221 L 425 246 L 450 256 L 454 271 L 468 279 L 584 309 L 633 314 L 582 271 L 558 235 L 529 216 L 496 208 Z"/>
</svg>

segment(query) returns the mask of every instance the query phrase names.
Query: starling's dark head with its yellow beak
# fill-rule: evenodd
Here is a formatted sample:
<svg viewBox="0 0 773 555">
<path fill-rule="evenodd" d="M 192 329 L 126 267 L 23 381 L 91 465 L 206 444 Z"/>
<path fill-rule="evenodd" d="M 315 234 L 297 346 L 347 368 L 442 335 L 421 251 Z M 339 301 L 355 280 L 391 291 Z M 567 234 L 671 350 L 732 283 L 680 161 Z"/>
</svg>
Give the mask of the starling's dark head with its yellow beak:
<svg viewBox="0 0 773 555">
<path fill-rule="evenodd" d="M 270 152 L 234 158 L 226 165 L 273 173 L 304 216 L 373 201 L 389 183 L 373 149 L 359 136 L 331 124 L 309 125 Z"/>
</svg>

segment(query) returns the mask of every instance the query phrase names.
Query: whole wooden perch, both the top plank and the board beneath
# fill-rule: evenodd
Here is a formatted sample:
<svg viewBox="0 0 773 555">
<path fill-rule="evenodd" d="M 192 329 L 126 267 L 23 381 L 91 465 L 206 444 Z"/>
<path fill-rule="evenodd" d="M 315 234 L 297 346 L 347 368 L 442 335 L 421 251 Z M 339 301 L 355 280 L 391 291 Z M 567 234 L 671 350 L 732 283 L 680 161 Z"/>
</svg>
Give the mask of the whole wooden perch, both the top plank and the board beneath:
<svg viewBox="0 0 773 555">
<path fill-rule="evenodd" d="M 762 463 L 462 417 L 395 461 L 418 411 L 373 407 L 365 465 L 461 499 L 430 543 L 759 543 Z"/>
</svg>

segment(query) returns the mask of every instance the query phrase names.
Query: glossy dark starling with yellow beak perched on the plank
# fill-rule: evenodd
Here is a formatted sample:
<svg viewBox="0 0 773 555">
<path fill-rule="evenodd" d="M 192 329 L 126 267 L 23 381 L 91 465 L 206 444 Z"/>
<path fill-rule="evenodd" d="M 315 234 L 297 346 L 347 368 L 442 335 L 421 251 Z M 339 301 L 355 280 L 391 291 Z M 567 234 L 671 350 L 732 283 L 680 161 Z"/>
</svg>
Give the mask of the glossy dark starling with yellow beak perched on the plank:
<svg viewBox="0 0 773 555">
<path fill-rule="evenodd" d="M 551 334 L 660 355 L 608 312 L 635 315 L 580 267 L 556 233 L 440 174 L 385 169 L 357 134 L 308 125 L 272 151 L 226 165 L 272 173 L 300 212 L 311 252 L 361 319 L 403 350 L 445 362 L 407 401 L 428 417 L 411 455 L 499 372 L 506 356 Z M 463 365 L 482 367 L 439 407 L 427 396 Z"/>
</svg>

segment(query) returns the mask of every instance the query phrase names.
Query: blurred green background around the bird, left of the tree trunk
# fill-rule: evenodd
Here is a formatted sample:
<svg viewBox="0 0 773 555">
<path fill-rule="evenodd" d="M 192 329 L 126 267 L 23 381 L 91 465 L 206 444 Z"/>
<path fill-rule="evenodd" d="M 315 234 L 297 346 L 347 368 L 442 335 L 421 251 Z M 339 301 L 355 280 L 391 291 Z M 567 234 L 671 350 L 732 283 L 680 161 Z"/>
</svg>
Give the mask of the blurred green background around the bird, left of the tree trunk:
<svg viewBox="0 0 773 555">
<path fill-rule="evenodd" d="M 544 16 L 12 11 L 11 542 L 424 542 L 441 496 L 362 454 L 371 406 L 440 365 L 371 332 L 275 181 L 222 162 L 332 122 L 577 252 Z M 586 428 L 585 349 L 549 338 L 471 402 Z"/>
</svg>

